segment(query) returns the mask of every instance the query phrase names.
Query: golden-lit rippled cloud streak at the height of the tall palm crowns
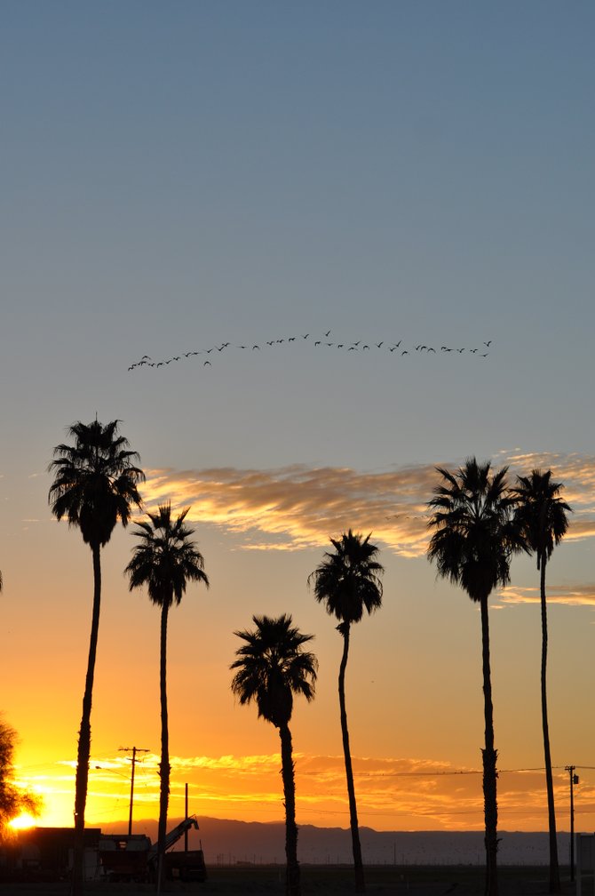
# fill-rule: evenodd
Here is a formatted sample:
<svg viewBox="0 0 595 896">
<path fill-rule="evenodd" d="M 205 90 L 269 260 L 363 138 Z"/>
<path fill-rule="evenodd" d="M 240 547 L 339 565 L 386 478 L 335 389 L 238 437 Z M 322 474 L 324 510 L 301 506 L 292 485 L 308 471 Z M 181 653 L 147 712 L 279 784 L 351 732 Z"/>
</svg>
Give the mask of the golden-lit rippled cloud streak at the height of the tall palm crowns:
<svg viewBox="0 0 595 896">
<path fill-rule="evenodd" d="M 460 464 L 439 465 L 454 470 Z M 517 474 L 551 469 L 574 508 L 567 538 L 595 535 L 595 457 L 501 453 L 494 467 L 505 464 L 511 484 Z M 438 479 L 433 464 L 371 473 L 297 464 L 276 470 L 149 470 L 145 497 L 150 509 L 166 501 L 191 505 L 193 521 L 227 531 L 244 550 L 321 547 L 351 528 L 373 532 L 395 554 L 416 557 L 427 547 L 427 502 Z"/>
</svg>

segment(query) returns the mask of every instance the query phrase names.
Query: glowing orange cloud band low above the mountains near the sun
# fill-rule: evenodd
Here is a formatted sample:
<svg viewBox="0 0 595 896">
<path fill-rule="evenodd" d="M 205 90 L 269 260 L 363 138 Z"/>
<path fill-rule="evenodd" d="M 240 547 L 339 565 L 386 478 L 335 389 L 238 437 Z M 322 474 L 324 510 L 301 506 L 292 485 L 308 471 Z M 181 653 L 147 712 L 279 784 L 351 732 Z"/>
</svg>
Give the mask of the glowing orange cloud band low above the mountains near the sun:
<svg viewBox="0 0 595 896">
<path fill-rule="evenodd" d="M 343 824 L 348 815 L 343 755 L 294 754 L 298 814 L 303 823 Z M 64 763 L 70 765 L 70 762 Z M 91 770 L 89 817 L 126 812 L 130 763 L 116 756 L 101 760 Z M 188 782 L 193 811 L 243 820 L 282 817 L 280 754 L 174 756 L 172 812 L 182 805 Z M 116 771 L 116 774 L 114 773 Z M 118 774 L 117 772 L 122 772 Z M 135 802 L 157 814 L 158 757 L 148 754 L 137 766 Z M 483 797 L 480 768 L 456 768 L 429 758 L 353 757 L 353 773 L 362 823 L 380 828 L 412 827 L 426 830 L 480 830 Z M 40 782 L 38 782 L 40 783 Z M 44 777 L 48 797 L 64 790 L 58 772 Z M 555 771 L 557 798 L 567 797 L 567 775 Z M 587 811 L 595 790 L 582 781 L 582 805 Z M 498 804 L 519 830 L 543 830 L 547 811 L 543 771 L 502 769 Z"/>
</svg>

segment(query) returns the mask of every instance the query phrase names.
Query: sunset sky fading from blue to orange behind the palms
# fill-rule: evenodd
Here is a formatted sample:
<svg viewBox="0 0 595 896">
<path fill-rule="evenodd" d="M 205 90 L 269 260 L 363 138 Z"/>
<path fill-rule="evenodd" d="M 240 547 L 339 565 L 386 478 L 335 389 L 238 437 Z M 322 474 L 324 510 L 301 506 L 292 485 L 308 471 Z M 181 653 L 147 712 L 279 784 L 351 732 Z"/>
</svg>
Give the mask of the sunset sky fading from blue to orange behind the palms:
<svg viewBox="0 0 595 896">
<path fill-rule="evenodd" d="M 347 827 L 341 638 L 307 580 L 352 528 L 386 570 L 347 669 L 360 821 L 480 830 L 480 616 L 437 579 L 424 516 L 436 466 L 476 456 L 513 484 L 553 470 L 574 508 L 548 564 L 549 723 L 558 828 L 574 764 L 593 830 L 594 28 L 582 0 L 4 0 L 0 708 L 39 823 L 72 823 L 92 599 L 47 467 L 97 415 L 140 453 L 145 510 L 191 506 L 210 580 L 169 619 L 172 816 L 188 783 L 192 813 L 283 817 L 276 729 L 229 666 L 254 614 L 290 613 L 319 658 L 297 820 Z M 132 528 L 102 554 L 96 826 L 128 817 L 124 747 L 149 751 L 135 819 L 158 811 Z M 499 825 L 544 830 L 534 558 L 490 625 Z"/>
</svg>

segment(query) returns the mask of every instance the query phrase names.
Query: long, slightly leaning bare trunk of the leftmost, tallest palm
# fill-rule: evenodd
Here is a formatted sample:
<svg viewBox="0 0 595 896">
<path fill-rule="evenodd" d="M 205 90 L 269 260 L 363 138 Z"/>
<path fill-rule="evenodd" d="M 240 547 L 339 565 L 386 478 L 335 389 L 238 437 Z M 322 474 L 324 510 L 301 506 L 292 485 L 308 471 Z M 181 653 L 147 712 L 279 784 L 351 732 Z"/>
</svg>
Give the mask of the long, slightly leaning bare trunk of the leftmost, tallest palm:
<svg viewBox="0 0 595 896">
<path fill-rule="evenodd" d="M 72 864 L 72 896 L 81 896 L 84 888 L 85 867 L 85 806 L 89 782 L 89 755 L 91 752 L 91 704 L 93 701 L 93 678 L 98 650 L 99 609 L 101 607 L 101 548 L 91 545 L 93 556 L 93 612 L 89 638 L 89 659 L 85 693 L 82 697 L 81 728 L 76 762 L 76 783 L 74 794 L 74 856 Z"/>
</svg>

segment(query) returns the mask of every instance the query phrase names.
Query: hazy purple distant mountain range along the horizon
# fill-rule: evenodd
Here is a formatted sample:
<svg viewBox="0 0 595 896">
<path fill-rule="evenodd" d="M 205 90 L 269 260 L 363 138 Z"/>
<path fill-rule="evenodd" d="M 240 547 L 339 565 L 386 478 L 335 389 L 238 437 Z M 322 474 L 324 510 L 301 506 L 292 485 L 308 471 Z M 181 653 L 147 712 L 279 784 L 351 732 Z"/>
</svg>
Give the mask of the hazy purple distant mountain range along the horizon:
<svg viewBox="0 0 595 896">
<path fill-rule="evenodd" d="M 172 818 L 168 830 L 181 819 Z M 281 822 L 236 822 L 198 817 L 200 830 L 190 831 L 189 849 L 205 851 L 210 866 L 251 862 L 285 862 L 285 824 Z M 103 824 L 104 833 L 125 833 L 127 822 Z M 134 823 L 133 833 L 157 840 L 157 822 Z M 368 865 L 481 865 L 484 862 L 483 831 L 374 831 L 362 827 L 361 849 Z M 502 865 L 547 865 L 548 833 L 498 831 L 498 860 Z M 175 849 L 183 849 L 183 839 Z M 569 861 L 570 838 L 558 834 L 561 864 Z M 316 865 L 350 863 L 351 834 L 344 828 L 300 825 L 298 853 L 302 863 Z"/>
</svg>

